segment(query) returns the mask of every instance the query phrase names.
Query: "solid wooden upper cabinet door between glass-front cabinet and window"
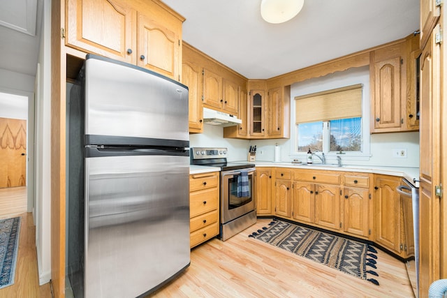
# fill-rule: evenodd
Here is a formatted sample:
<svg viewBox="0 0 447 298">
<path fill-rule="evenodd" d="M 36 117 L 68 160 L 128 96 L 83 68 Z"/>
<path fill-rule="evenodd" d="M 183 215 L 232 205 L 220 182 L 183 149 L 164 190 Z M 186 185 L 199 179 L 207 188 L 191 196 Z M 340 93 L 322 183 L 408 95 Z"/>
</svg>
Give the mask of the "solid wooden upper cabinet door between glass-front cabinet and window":
<svg viewBox="0 0 447 298">
<path fill-rule="evenodd" d="M 268 91 L 268 136 L 281 137 L 282 135 L 282 101 L 281 88 Z"/>
</svg>

